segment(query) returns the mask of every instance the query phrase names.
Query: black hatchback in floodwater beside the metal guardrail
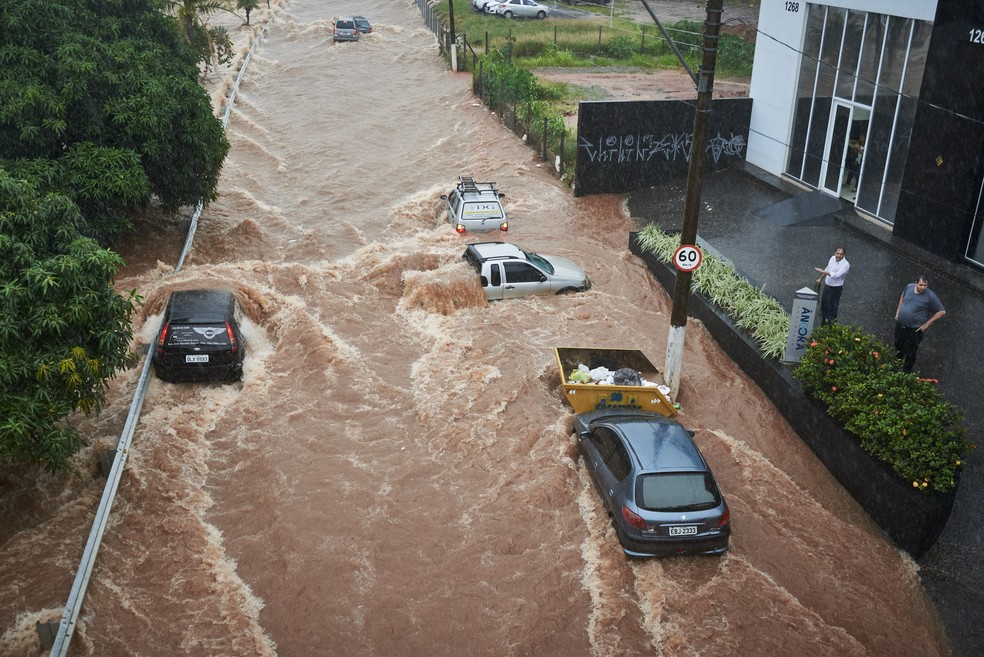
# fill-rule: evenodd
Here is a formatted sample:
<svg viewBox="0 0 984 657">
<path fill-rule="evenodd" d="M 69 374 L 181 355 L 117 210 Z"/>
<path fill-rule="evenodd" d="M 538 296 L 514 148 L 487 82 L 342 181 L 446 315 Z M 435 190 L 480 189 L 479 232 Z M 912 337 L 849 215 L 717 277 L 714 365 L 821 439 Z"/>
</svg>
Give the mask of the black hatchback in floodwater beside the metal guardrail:
<svg viewBox="0 0 984 657">
<path fill-rule="evenodd" d="M 154 345 L 154 371 L 164 381 L 238 381 L 245 344 L 231 292 L 171 294 Z"/>
</svg>

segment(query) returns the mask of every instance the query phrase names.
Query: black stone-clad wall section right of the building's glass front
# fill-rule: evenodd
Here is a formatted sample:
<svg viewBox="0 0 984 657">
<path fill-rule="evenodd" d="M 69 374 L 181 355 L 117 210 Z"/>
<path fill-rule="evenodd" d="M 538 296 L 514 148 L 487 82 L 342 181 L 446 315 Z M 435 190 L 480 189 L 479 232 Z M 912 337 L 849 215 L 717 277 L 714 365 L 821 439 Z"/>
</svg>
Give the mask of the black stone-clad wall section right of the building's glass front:
<svg viewBox="0 0 984 657">
<path fill-rule="evenodd" d="M 984 177 L 982 60 L 984 0 L 939 0 L 894 234 L 951 261 L 963 258 Z"/>
</svg>

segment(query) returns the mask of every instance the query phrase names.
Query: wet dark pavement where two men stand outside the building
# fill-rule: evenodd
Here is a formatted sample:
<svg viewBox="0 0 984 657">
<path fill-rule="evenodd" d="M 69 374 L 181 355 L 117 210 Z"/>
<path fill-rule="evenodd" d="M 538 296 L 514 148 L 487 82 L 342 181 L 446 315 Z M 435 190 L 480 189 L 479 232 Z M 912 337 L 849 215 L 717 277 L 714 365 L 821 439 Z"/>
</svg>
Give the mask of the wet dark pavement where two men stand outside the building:
<svg viewBox="0 0 984 657">
<path fill-rule="evenodd" d="M 640 225 L 679 230 L 686 181 L 629 195 Z M 916 370 L 940 381 L 945 398 L 963 409 L 971 441 L 984 437 L 976 335 L 984 320 L 984 273 L 945 261 L 894 238 L 880 221 L 852 205 L 772 176 L 757 167 L 709 174 L 702 185 L 699 241 L 787 309 L 793 294 L 811 287 L 837 247 L 851 263 L 839 321 L 859 325 L 892 344 L 895 309 L 906 284 L 925 274 L 947 314 L 926 333 Z M 797 199 L 791 201 L 790 199 Z M 831 204 L 831 202 L 833 202 Z M 820 208 L 810 212 L 810 206 Z M 956 502 L 936 545 L 919 560 L 920 576 L 946 625 L 956 657 L 984 655 L 984 450 L 967 460 Z"/>
</svg>

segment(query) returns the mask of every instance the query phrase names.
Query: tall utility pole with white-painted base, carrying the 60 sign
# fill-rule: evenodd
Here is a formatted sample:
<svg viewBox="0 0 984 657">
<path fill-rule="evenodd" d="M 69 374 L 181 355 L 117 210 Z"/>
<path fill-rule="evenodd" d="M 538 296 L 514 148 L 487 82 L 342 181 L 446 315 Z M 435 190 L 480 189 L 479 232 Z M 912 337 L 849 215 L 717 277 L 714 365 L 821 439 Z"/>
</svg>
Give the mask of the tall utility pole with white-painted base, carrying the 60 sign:
<svg viewBox="0 0 984 657">
<path fill-rule="evenodd" d="M 697 219 L 700 214 L 700 190 L 707 159 L 707 133 L 711 118 L 711 91 L 714 88 L 714 67 L 717 63 L 718 41 L 721 33 L 721 6 L 724 0 L 708 0 L 704 21 L 704 56 L 697 78 L 697 110 L 694 114 L 694 135 L 690 146 L 690 169 L 687 174 L 687 196 L 683 207 L 683 226 L 680 245 L 697 242 Z M 648 8 L 648 7 L 647 7 Z M 677 271 L 673 289 L 673 312 L 670 333 L 666 340 L 666 365 L 663 378 L 676 396 L 680 390 L 680 370 L 683 366 L 683 346 L 687 333 L 687 310 L 690 306 L 690 271 Z"/>
</svg>

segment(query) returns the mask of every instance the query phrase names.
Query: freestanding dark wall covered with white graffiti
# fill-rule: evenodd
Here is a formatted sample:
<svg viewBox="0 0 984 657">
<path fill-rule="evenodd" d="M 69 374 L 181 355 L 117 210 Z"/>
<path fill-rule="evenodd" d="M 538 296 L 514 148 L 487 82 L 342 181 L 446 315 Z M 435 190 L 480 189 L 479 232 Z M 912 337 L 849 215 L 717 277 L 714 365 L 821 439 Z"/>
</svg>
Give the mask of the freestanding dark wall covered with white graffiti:
<svg viewBox="0 0 984 657">
<path fill-rule="evenodd" d="M 631 192 L 686 178 L 695 103 L 696 98 L 581 102 L 574 194 Z M 750 98 L 711 101 L 707 171 L 744 161 L 751 116 Z"/>
</svg>

